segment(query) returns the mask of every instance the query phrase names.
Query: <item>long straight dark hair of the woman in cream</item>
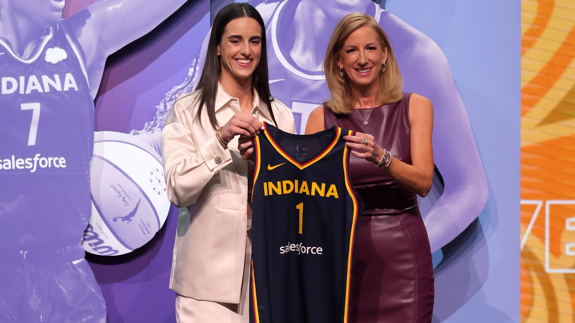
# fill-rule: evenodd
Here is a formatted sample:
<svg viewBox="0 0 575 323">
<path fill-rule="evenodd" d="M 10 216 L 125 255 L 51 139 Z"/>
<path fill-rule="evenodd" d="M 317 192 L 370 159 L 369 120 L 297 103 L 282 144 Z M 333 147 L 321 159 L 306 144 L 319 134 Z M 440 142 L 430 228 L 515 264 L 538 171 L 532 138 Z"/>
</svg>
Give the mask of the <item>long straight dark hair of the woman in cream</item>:
<svg viewBox="0 0 575 323">
<path fill-rule="evenodd" d="M 270 111 L 271 119 L 275 124 L 274 111 L 271 109 L 271 102 L 274 100 L 270 94 L 270 83 L 267 76 L 267 50 L 266 50 L 266 26 L 263 23 L 262 16 L 248 3 L 230 3 L 223 7 L 216 15 L 212 26 L 212 33 L 208 42 L 208 52 L 206 53 L 206 61 L 204 70 L 196 89 L 199 91 L 196 103 L 198 104 L 198 112 L 196 119 L 200 121 L 202 108 L 204 105 L 208 109 L 208 117 L 212 127 L 217 129 L 218 123 L 216 120 L 216 94 L 218 77 L 220 77 L 220 60 L 217 57 L 217 46 L 221 42 L 224 34 L 225 26 L 236 18 L 254 18 L 262 28 L 262 53 L 258 66 L 252 75 L 252 87 L 258 92 L 260 100 L 266 104 Z M 263 107 L 260 107 L 263 108 Z M 200 122 L 198 122 L 200 123 Z M 201 124 L 201 123 L 200 123 Z"/>
</svg>

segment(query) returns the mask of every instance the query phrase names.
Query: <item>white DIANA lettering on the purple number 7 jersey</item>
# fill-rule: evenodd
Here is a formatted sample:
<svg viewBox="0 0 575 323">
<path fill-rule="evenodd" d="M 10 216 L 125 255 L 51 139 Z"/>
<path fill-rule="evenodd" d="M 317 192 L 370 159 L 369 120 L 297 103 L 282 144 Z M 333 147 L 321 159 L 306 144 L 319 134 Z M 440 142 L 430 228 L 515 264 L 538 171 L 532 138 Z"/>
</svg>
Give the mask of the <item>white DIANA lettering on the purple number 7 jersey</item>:
<svg viewBox="0 0 575 323">
<path fill-rule="evenodd" d="M 0 93 L 13 94 L 18 91 L 19 94 L 31 94 L 34 91 L 44 93 L 70 91 L 70 89 L 78 91 L 78 84 L 72 73 L 66 73 L 65 75 L 3 76 Z"/>
</svg>

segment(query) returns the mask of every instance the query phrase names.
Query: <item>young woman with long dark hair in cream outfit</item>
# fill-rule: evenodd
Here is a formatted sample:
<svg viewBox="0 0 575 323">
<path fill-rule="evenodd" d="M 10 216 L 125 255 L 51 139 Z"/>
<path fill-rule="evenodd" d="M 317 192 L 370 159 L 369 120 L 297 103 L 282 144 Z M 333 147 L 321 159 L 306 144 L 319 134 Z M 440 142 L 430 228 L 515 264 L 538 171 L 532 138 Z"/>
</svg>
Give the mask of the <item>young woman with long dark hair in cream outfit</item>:
<svg viewBox="0 0 575 323">
<path fill-rule="evenodd" d="M 181 208 L 170 278 L 178 322 L 248 322 L 248 159 L 262 121 L 295 132 L 270 94 L 262 17 L 232 3 L 216 15 L 196 91 L 162 131 L 167 194 Z"/>
</svg>

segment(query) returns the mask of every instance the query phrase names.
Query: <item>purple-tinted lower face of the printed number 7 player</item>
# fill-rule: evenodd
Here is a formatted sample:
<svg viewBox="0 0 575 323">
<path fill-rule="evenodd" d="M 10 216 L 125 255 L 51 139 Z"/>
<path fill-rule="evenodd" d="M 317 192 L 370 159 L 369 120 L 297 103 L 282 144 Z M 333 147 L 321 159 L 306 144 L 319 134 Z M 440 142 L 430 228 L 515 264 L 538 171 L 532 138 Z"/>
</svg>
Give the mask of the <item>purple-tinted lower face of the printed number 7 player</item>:
<svg viewBox="0 0 575 323">
<path fill-rule="evenodd" d="M 13 14 L 25 17 L 35 26 L 52 26 L 62 20 L 64 0 L 7 0 Z"/>
</svg>

